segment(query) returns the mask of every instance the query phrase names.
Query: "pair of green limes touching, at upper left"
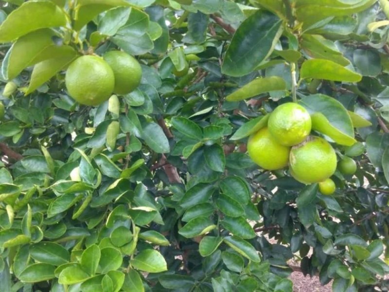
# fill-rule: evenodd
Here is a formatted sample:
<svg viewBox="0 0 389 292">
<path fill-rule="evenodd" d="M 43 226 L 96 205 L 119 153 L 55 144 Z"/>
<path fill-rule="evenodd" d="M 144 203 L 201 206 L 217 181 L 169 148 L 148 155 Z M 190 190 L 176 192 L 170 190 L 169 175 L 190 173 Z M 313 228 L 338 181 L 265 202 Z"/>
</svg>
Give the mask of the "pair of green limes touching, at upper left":
<svg viewBox="0 0 389 292">
<path fill-rule="evenodd" d="M 113 93 L 127 94 L 141 82 L 141 65 L 131 55 L 110 51 L 103 57 L 83 55 L 69 66 L 66 88 L 76 101 L 96 106 Z"/>
</svg>

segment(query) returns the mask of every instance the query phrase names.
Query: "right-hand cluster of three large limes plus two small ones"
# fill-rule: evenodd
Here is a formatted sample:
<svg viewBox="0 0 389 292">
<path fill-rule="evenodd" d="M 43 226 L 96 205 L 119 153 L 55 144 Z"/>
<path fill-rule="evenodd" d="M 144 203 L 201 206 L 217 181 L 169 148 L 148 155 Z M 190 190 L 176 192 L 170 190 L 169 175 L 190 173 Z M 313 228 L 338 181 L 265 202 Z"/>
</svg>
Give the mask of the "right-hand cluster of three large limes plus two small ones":
<svg viewBox="0 0 389 292">
<path fill-rule="evenodd" d="M 301 183 L 319 183 L 320 192 L 335 192 L 330 177 L 336 171 L 336 152 L 326 140 L 310 135 L 312 121 L 309 112 L 297 103 L 285 103 L 269 116 L 267 127 L 248 139 L 251 159 L 267 170 L 289 165 L 290 174 Z M 349 157 L 338 164 L 343 174 L 354 174 L 356 164 Z"/>
</svg>

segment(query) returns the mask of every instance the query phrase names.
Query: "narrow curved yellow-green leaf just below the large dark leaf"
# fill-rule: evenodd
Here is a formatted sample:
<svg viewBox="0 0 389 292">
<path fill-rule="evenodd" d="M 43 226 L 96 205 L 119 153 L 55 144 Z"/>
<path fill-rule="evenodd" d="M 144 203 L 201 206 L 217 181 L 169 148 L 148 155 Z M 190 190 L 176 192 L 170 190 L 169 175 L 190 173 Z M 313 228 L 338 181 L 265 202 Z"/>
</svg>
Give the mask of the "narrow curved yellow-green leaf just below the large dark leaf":
<svg viewBox="0 0 389 292">
<path fill-rule="evenodd" d="M 278 76 L 270 76 L 264 78 L 256 78 L 242 88 L 227 95 L 227 101 L 240 101 L 268 91 L 286 90 L 286 83 L 283 78 Z"/>
</svg>

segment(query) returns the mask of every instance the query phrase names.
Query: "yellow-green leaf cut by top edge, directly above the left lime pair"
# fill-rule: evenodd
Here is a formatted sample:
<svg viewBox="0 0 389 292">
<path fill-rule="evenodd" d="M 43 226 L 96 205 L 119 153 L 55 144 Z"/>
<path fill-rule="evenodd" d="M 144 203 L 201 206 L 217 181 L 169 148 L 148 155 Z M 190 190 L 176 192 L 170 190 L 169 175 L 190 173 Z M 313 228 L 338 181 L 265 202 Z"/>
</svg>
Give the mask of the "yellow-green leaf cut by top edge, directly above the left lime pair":
<svg viewBox="0 0 389 292">
<path fill-rule="evenodd" d="M 125 0 L 78 0 L 73 28 L 78 31 L 103 11 L 117 6 L 125 7 L 130 4 Z"/>
</svg>

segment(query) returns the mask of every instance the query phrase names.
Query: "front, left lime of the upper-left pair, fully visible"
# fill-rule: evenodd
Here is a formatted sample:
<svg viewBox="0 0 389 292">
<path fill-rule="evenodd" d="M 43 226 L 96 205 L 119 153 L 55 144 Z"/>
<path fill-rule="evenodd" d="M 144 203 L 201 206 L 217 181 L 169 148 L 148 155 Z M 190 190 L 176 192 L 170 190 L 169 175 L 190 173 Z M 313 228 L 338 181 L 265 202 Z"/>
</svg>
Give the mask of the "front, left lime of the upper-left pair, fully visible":
<svg viewBox="0 0 389 292">
<path fill-rule="evenodd" d="M 71 97 L 80 104 L 97 106 L 111 96 L 115 78 L 103 58 L 84 55 L 70 64 L 65 84 Z"/>
</svg>

